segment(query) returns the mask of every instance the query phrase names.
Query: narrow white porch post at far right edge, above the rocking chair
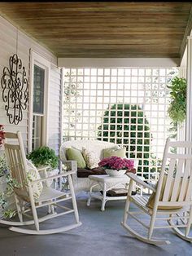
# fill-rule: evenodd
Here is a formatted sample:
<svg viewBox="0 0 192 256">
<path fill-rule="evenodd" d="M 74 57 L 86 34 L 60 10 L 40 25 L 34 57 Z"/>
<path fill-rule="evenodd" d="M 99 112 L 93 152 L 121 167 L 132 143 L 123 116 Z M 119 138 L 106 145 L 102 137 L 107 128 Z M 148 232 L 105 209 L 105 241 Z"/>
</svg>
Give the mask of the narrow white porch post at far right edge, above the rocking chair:
<svg viewBox="0 0 192 256">
<path fill-rule="evenodd" d="M 187 38 L 186 140 L 192 141 L 192 37 Z"/>
</svg>

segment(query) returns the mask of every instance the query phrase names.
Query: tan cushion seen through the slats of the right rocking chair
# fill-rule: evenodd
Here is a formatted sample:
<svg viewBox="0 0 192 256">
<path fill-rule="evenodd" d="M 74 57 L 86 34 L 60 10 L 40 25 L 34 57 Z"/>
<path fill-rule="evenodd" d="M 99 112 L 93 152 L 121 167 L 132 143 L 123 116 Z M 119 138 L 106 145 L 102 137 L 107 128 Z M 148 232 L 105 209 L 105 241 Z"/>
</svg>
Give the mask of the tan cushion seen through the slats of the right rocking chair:
<svg viewBox="0 0 192 256">
<path fill-rule="evenodd" d="M 159 201 L 163 200 L 164 189 L 165 189 L 165 185 L 166 185 L 167 179 L 168 179 L 168 174 L 164 174 L 164 179 L 163 179 L 163 183 L 162 183 L 162 187 L 161 187 L 161 191 L 160 191 Z M 175 179 L 172 178 L 171 188 L 170 188 L 170 195 L 169 195 L 168 201 L 171 199 L 171 192 L 172 192 L 172 188 L 173 188 L 173 185 L 174 185 L 174 180 Z M 182 183 L 182 179 L 180 181 L 179 188 L 181 188 L 181 183 Z M 155 188 L 157 188 L 157 185 L 158 185 L 158 182 L 156 183 Z M 149 208 L 153 208 L 154 207 L 154 203 L 155 203 L 155 192 L 152 192 L 152 194 L 149 197 L 149 200 L 148 200 L 146 206 L 149 207 Z M 162 205 L 159 205 L 158 206 L 158 210 L 175 210 L 175 209 L 177 210 L 177 209 L 181 209 L 181 208 L 182 208 L 182 206 L 180 206 L 180 205 L 172 205 L 172 206 L 162 206 Z"/>
</svg>

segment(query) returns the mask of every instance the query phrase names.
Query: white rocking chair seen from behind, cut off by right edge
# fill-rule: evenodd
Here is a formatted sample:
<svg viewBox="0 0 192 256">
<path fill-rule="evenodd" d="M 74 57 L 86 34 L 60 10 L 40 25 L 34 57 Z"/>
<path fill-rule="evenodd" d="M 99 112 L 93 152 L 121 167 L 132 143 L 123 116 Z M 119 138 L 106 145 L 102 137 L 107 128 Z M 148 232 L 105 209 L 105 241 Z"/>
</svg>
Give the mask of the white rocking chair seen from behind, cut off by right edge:
<svg viewBox="0 0 192 256">
<path fill-rule="evenodd" d="M 170 148 L 185 148 L 187 153 L 172 153 Z M 164 148 L 164 158 L 159 175 L 159 181 L 156 188 L 143 182 L 136 175 L 128 173 L 130 183 L 129 192 L 124 208 L 124 217 L 122 226 L 137 239 L 153 245 L 170 244 L 170 241 L 159 241 L 152 239 L 152 233 L 155 228 L 172 228 L 177 236 L 185 241 L 192 242 L 190 227 L 192 224 L 192 143 L 189 142 L 171 142 L 166 141 Z M 177 151 L 178 152 L 178 151 Z M 168 164 L 169 163 L 169 164 Z M 166 174 L 166 165 L 168 164 L 168 174 Z M 154 204 L 151 207 L 150 200 L 146 196 L 131 196 L 133 182 L 148 188 L 153 192 Z M 129 210 L 130 202 L 133 202 L 142 210 Z M 151 217 L 149 225 L 143 223 L 141 218 L 136 217 L 139 214 L 148 214 Z M 132 217 L 138 223 L 142 224 L 148 230 L 148 236 L 142 236 L 128 224 L 128 217 Z M 168 225 L 161 226 L 155 224 L 158 220 L 165 220 Z M 129 223 L 132 221 L 129 218 Z M 156 226 L 155 226 L 156 225 Z M 184 230 L 184 231 L 183 231 Z"/>
</svg>

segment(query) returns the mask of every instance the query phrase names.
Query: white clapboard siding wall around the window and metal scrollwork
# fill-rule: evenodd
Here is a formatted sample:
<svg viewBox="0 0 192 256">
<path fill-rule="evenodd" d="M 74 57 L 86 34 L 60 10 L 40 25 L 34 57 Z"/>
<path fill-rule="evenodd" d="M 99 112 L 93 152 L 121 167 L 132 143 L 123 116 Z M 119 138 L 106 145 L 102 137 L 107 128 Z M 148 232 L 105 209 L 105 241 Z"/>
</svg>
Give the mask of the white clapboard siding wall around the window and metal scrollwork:
<svg viewBox="0 0 192 256">
<path fill-rule="evenodd" d="M 17 40 L 18 38 L 18 40 Z M 17 46 L 17 47 L 16 47 Z M 45 47 L 39 45 L 32 38 L 16 29 L 10 22 L 0 17 L 0 77 L 2 70 L 9 64 L 11 55 L 17 53 L 29 74 L 30 49 L 50 61 L 50 88 L 49 88 L 49 113 L 48 113 L 48 144 L 59 153 L 60 143 L 60 97 L 61 97 L 61 70 L 56 67 L 57 58 Z M 30 79 L 30 77 L 28 77 Z M 0 124 L 5 126 L 6 131 L 16 132 L 20 130 L 24 138 L 24 146 L 28 148 L 28 108 L 23 113 L 23 120 L 19 125 L 11 125 L 2 102 L 2 87 L 0 86 Z"/>
</svg>

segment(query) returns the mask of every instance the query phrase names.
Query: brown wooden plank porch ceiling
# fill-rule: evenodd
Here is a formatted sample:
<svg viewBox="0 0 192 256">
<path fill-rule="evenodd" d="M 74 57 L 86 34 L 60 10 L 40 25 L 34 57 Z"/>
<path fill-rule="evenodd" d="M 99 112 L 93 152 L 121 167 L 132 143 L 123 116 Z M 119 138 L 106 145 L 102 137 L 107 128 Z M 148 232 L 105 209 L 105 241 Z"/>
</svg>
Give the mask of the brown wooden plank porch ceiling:
<svg viewBox="0 0 192 256">
<path fill-rule="evenodd" d="M 181 58 L 191 2 L 1 2 L 0 14 L 58 57 Z"/>
</svg>

